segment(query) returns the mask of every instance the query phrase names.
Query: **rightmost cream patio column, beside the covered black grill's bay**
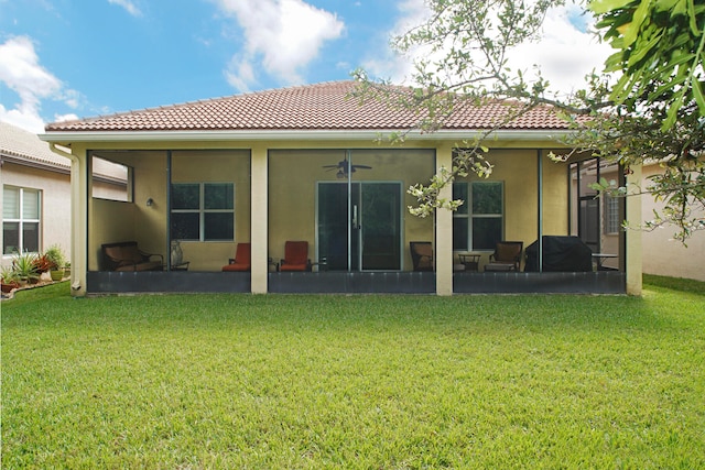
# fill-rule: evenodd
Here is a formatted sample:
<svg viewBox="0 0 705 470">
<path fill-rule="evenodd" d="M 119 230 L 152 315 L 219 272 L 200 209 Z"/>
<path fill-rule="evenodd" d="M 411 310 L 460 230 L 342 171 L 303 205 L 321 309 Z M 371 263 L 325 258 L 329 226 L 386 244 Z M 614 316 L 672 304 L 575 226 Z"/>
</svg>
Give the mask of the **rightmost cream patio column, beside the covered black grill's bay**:
<svg viewBox="0 0 705 470">
<path fill-rule="evenodd" d="M 641 165 L 630 167 L 631 174 L 627 175 L 627 187 L 641 185 Z M 642 196 L 627 197 L 627 220 L 629 225 L 641 225 L 641 198 Z M 627 294 L 641 295 L 641 230 L 627 230 L 625 247 L 625 270 L 627 276 Z"/>
</svg>

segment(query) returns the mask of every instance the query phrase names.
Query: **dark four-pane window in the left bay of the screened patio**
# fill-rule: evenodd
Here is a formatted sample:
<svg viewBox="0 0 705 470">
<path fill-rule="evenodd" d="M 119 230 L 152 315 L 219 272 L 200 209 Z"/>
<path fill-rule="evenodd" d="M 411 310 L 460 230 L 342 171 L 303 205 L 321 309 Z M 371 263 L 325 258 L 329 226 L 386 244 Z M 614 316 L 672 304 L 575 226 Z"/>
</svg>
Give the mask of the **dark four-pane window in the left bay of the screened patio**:
<svg viewBox="0 0 705 470">
<path fill-rule="evenodd" d="M 232 183 L 172 184 L 174 240 L 232 241 L 235 185 Z"/>
</svg>

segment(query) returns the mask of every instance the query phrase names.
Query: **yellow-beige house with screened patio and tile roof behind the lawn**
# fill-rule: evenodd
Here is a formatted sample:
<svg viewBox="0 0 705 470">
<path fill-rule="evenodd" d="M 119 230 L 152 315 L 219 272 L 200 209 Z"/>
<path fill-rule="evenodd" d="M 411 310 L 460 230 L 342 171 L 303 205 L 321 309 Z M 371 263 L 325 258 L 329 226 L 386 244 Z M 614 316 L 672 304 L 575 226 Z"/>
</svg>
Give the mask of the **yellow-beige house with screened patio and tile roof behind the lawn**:
<svg viewBox="0 0 705 470">
<path fill-rule="evenodd" d="M 419 218 L 406 210 L 414 205 L 406 189 L 451 167 L 464 140 L 492 129 L 507 108 L 459 105 L 443 129 L 411 131 L 399 145 L 378 136 L 413 128 L 417 116 L 360 106 L 349 99 L 355 87 L 324 83 L 47 125 L 42 139 L 72 159 L 73 294 L 640 293 L 640 237 L 623 231 L 611 270 L 545 272 L 539 263 L 527 272 L 523 261 L 519 270 L 488 269 L 498 241 L 523 249 L 544 236 L 583 238 L 595 219 L 585 186 L 571 189 L 571 174 L 589 171 L 592 160 L 549 157 L 565 150 L 556 138 L 568 132 L 552 109 L 492 133 L 491 176 L 443 189 L 467 200 L 460 210 Z M 98 162 L 124 170 L 126 200 L 98 197 L 90 176 Z M 640 217 L 637 199 L 619 204 L 618 214 Z M 163 269 L 115 271 L 106 245 L 128 241 L 161 256 Z M 174 241 L 183 259 L 172 259 Z M 303 272 L 281 269 L 291 241 L 305 242 Z M 416 241 L 431 245 L 424 271 L 414 270 Z M 250 243 L 250 270 L 223 272 L 238 243 Z M 467 256 L 476 264 L 464 264 Z"/>
</svg>

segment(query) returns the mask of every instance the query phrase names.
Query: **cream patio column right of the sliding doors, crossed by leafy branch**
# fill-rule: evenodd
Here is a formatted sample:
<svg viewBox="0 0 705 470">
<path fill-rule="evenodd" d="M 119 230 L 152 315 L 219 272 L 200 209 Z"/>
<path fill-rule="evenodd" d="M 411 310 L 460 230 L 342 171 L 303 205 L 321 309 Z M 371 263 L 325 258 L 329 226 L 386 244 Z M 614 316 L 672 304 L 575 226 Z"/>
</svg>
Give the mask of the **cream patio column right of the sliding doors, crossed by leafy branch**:
<svg viewBox="0 0 705 470">
<path fill-rule="evenodd" d="M 453 167 L 453 146 L 442 144 L 436 150 L 436 172 L 442 167 Z M 453 198 L 453 186 L 447 185 L 438 197 L 445 200 Z M 453 211 L 436 210 L 436 294 L 453 295 Z"/>
</svg>

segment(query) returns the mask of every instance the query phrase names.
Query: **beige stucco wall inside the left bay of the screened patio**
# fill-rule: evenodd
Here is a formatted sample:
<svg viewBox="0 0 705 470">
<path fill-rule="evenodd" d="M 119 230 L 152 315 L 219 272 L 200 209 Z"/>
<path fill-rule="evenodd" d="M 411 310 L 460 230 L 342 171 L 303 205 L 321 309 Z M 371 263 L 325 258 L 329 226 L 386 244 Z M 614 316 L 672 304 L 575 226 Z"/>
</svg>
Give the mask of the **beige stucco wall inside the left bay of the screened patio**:
<svg viewBox="0 0 705 470">
<path fill-rule="evenodd" d="M 130 241 L 162 254 L 166 261 L 167 174 L 165 151 L 100 152 L 105 159 L 128 165 L 134 175 L 132 201 L 91 198 L 89 270 L 99 267 L 100 244 Z M 236 239 L 234 242 L 181 243 L 192 271 L 219 271 L 235 255 L 238 242 L 250 240 L 250 156 L 248 151 L 174 151 L 174 183 L 231 182 L 235 184 Z M 147 182 L 147 183 L 145 183 Z M 102 195 L 102 194 L 101 194 Z M 148 199 L 152 205 L 148 206 Z"/>
</svg>

